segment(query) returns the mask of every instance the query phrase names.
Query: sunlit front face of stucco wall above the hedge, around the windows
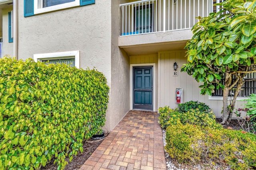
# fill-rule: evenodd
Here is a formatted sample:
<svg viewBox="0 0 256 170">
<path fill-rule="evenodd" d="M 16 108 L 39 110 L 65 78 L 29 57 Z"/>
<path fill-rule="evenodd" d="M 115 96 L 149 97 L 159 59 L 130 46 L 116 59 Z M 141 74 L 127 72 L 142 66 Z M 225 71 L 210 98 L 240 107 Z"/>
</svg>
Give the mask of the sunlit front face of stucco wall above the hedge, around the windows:
<svg viewBox="0 0 256 170">
<path fill-rule="evenodd" d="M 80 68 L 96 68 L 106 76 L 111 102 L 111 1 L 96 0 L 95 4 L 26 18 L 23 12 L 23 1 L 19 1 L 18 59 L 33 58 L 34 54 L 79 50 Z M 113 112 L 117 111 L 109 103 L 106 114 L 108 131 L 116 123 L 111 120 Z"/>
</svg>

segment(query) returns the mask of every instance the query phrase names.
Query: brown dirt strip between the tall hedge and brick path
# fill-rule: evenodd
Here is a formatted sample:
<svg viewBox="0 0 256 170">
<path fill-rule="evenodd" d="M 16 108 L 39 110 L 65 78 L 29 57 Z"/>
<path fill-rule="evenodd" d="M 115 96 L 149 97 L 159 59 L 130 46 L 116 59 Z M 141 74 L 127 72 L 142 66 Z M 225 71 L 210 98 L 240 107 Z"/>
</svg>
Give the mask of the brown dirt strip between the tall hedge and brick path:
<svg viewBox="0 0 256 170">
<path fill-rule="evenodd" d="M 78 170 L 84 162 L 90 157 L 90 155 L 97 149 L 100 143 L 103 141 L 101 140 L 89 140 L 84 142 L 84 152 L 78 153 L 77 155 L 73 156 L 73 160 L 69 162 L 69 158 L 66 158 L 68 164 L 64 168 L 64 170 Z M 51 160 L 45 167 L 41 167 L 40 170 L 57 170 L 57 164 L 53 164 L 54 160 Z"/>
</svg>

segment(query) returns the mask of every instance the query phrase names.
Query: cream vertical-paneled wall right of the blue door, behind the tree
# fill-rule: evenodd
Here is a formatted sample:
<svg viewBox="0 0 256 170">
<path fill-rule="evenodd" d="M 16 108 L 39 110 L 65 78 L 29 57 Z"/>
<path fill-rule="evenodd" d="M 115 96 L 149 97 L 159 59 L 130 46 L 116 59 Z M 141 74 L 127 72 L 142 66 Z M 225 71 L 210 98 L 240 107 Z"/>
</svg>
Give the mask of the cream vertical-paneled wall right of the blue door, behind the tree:
<svg viewBox="0 0 256 170">
<path fill-rule="evenodd" d="M 202 84 L 196 82 L 192 76 L 186 72 L 180 72 L 182 64 L 186 63 L 185 50 L 160 52 L 158 55 L 158 104 L 159 107 L 170 106 L 175 108 L 176 88 L 183 88 L 183 103 L 191 100 L 204 102 L 213 109 L 216 117 L 222 117 L 222 100 L 209 100 L 208 95 L 201 95 L 199 86 Z M 172 76 L 173 64 L 178 64 L 178 76 Z M 237 101 L 236 108 L 244 107 L 245 102 Z M 244 115 L 242 115 L 244 116 Z M 233 115 L 235 117 L 235 115 Z"/>
</svg>

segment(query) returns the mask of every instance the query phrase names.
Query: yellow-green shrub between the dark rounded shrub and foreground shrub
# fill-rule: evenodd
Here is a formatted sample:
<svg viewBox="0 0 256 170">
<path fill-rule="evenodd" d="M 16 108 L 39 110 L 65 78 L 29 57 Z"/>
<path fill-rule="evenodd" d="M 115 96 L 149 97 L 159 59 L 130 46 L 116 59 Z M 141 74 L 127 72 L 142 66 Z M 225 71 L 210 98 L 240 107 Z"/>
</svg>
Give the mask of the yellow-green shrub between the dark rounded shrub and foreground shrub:
<svg viewBox="0 0 256 170">
<path fill-rule="evenodd" d="M 186 123 L 192 125 L 208 126 L 211 128 L 222 128 L 219 123 L 216 123 L 215 115 L 212 112 L 206 113 L 199 109 L 190 109 L 186 112 L 179 112 L 178 109 L 170 109 L 168 106 L 160 107 L 159 109 L 159 123 L 162 128 L 166 129 L 169 125 L 176 125 L 177 122 L 185 125 Z"/>
</svg>

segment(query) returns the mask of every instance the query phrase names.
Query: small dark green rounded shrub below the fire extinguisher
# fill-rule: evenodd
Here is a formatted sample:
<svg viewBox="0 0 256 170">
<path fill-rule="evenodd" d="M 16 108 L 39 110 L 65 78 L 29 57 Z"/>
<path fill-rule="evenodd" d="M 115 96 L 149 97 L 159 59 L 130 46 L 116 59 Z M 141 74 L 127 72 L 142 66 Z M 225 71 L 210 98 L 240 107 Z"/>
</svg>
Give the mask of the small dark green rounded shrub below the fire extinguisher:
<svg viewBox="0 0 256 170">
<path fill-rule="evenodd" d="M 186 103 L 182 103 L 178 105 L 178 111 L 183 113 L 183 112 L 187 112 L 190 109 L 199 109 L 199 111 L 201 112 L 210 112 L 210 107 L 207 106 L 206 104 L 202 103 L 202 102 L 198 102 L 198 101 L 190 101 L 190 102 L 186 102 Z"/>
</svg>

